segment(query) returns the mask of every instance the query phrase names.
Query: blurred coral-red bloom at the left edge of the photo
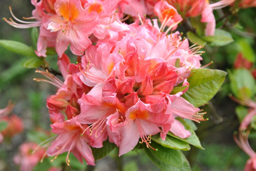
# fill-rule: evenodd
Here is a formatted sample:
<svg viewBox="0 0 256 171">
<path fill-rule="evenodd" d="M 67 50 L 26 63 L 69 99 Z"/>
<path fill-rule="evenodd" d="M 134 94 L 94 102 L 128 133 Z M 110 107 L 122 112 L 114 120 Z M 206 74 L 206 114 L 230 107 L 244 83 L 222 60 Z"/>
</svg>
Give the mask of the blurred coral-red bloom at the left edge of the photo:
<svg viewBox="0 0 256 171">
<path fill-rule="evenodd" d="M 6 138 L 11 138 L 24 130 L 23 121 L 17 115 L 2 117 L 0 121 L 7 122 L 7 127 L 1 131 L 1 134 Z"/>
</svg>

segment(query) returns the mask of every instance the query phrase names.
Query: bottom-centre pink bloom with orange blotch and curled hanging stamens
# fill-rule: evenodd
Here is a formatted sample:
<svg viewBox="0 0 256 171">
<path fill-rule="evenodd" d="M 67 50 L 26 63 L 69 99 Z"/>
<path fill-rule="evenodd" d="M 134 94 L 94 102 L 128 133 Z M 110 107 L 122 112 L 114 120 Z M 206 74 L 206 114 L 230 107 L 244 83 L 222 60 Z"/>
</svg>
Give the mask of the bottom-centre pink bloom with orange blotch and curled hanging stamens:
<svg viewBox="0 0 256 171">
<path fill-rule="evenodd" d="M 161 132 L 157 125 L 158 117 L 161 117 L 161 115 L 154 116 L 150 104 L 145 104 L 141 100 L 130 107 L 125 113 L 124 123 L 120 123 L 119 126 L 119 156 L 132 150 L 140 138 L 140 143 L 145 142 L 147 148 L 151 147 L 151 135 Z"/>
</svg>

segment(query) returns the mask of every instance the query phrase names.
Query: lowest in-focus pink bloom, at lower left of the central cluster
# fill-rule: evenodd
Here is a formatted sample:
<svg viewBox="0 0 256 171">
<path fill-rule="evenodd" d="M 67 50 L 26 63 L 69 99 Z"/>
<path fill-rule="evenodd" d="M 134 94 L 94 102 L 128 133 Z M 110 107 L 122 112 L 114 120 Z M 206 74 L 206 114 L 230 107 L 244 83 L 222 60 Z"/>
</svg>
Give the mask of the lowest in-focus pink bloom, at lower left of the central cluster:
<svg viewBox="0 0 256 171">
<path fill-rule="evenodd" d="M 54 123 L 51 125 L 52 132 L 58 134 L 58 137 L 51 143 L 51 146 L 48 147 L 47 155 L 57 158 L 59 154 L 68 151 L 66 157 L 67 165 L 70 163 L 68 157 L 69 153 L 72 152 L 81 163 L 82 158 L 84 158 L 88 165 L 94 166 L 92 150 L 87 144 L 92 142 L 91 136 L 88 136 L 89 130 L 81 137 L 81 134 L 87 127 L 87 125 L 78 123 L 74 118 L 64 123 Z"/>
</svg>

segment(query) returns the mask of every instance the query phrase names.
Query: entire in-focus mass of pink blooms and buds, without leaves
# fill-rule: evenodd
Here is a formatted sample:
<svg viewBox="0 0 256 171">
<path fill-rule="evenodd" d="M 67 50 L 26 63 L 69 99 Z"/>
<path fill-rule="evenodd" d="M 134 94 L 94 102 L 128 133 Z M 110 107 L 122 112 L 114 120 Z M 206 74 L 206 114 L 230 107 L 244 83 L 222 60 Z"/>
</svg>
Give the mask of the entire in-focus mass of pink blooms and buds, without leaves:
<svg viewBox="0 0 256 171">
<path fill-rule="evenodd" d="M 151 145 L 151 136 L 164 141 L 170 131 L 182 139 L 191 135 L 177 117 L 200 123 L 202 112 L 185 100 L 192 69 L 200 68 L 203 46 L 189 46 L 174 31 L 185 17 L 201 16 L 205 34 L 213 35 L 212 9 L 233 3 L 206 1 L 150 0 L 31 0 L 36 21 L 8 21 L 16 28 L 40 27 L 38 56 L 46 57 L 47 47 L 56 48 L 64 82 L 48 70 L 36 72 L 58 88 L 47 100 L 52 132 L 46 153 L 54 156 L 73 153 L 80 162 L 95 165 L 91 147 L 101 148 L 107 140 L 119 147 L 119 156 L 142 143 Z M 156 16 L 146 19 L 144 15 Z M 125 21 L 133 17 L 130 25 Z M 68 46 L 77 63 L 65 54 Z M 18 160 L 17 160 L 18 161 Z"/>
</svg>

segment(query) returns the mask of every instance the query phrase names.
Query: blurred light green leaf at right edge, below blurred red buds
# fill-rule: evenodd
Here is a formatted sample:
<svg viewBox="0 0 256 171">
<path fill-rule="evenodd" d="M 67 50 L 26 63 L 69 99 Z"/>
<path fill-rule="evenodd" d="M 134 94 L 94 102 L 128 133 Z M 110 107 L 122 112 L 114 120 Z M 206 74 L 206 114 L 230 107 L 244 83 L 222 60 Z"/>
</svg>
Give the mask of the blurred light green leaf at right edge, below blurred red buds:
<svg viewBox="0 0 256 171">
<path fill-rule="evenodd" d="M 246 68 L 239 68 L 231 73 L 228 70 L 228 76 L 230 79 L 230 88 L 234 96 L 241 97 L 242 92 L 246 92 L 250 97 L 254 96 L 256 93 L 255 89 L 255 79 L 251 72 Z"/>
</svg>

